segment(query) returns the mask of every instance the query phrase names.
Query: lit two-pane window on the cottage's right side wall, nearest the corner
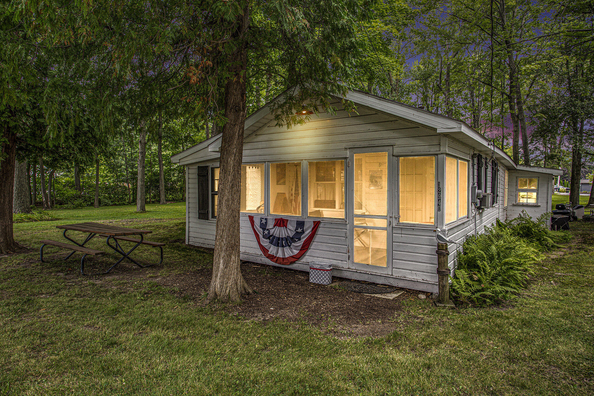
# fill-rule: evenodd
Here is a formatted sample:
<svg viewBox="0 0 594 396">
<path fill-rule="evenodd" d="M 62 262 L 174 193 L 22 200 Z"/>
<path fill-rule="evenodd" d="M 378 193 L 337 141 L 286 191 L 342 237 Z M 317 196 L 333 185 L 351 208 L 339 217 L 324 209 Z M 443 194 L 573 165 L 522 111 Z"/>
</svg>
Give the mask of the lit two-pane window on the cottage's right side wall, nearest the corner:
<svg viewBox="0 0 594 396">
<path fill-rule="evenodd" d="M 445 223 L 468 214 L 468 162 L 445 157 Z"/>
</svg>

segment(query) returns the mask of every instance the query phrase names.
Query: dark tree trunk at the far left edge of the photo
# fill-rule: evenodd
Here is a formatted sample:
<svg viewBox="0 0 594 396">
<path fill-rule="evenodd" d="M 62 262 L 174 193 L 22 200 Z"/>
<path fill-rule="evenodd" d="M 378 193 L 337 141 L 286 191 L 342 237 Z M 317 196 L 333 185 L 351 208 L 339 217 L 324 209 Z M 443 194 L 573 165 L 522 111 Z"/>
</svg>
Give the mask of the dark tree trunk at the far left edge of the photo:
<svg viewBox="0 0 594 396">
<path fill-rule="evenodd" d="M 0 254 L 14 252 L 21 246 L 12 233 L 12 195 L 14 193 L 14 159 L 16 135 L 4 122 L 0 150 Z"/>
</svg>

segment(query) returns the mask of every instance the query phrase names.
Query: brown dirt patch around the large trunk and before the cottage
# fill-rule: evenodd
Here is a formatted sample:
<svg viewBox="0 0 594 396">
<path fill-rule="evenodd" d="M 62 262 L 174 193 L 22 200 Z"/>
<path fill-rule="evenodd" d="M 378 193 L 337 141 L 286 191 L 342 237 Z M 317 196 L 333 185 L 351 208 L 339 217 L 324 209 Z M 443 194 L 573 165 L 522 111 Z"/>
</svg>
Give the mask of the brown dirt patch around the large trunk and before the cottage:
<svg viewBox="0 0 594 396">
<path fill-rule="evenodd" d="M 97 262 L 96 269 L 101 265 Z M 89 265 L 88 271 L 93 271 L 93 267 Z M 255 293 L 244 296 L 241 304 L 216 306 L 216 309 L 246 320 L 306 322 L 337 337 L 381 337 L 397 330 L 405 324 L 404 316 L 408 318 L 408 315 L 403 315 L 403 302 L 416 299 L 419 294 L 414 290 L 402 289 L 404 293 L 388 300 L 349 292 L 339 284 L 313 284 L 309 282 L 309 274 L 303 271 L 254 262 L 244 262 L 242 274 Z M 72 280 L 89 280 L 74 271 L 68 271 L 65 276 L 72 277 Z M 169 288 L 174 294 L 191 297 L 196 303 L 203 304 L 210 277 L 210 268 L 183 271 L 178 266 L 169 270 L 167 267 L 137 268 L 124 264 L 108 275 L 91 279 L 103 286 L 113 283 L 118 288 L 125 288 L 126 283 L 132 284 L 140 279 L 150 280 Z M 344 280 L 333 278 L 334 282 Z M 430 296 L 430 293 L 423 294 Z M 425 303 L 430 304 L 431 301 L 428 298 Z"/>
</svg>

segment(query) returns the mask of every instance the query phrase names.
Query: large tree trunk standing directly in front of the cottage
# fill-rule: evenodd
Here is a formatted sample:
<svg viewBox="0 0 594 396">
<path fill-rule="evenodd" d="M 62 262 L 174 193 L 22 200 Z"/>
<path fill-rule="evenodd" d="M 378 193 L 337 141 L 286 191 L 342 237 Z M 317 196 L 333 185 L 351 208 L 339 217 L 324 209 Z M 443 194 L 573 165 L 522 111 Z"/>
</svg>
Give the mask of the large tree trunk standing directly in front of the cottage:
<svg viewBox="0 0 594 396">
<path fill-rule="evenodd" d="M 246 111 L 247 43 L 241 36 L 249 24 L 248 6 L 238 21 L 235 38 L 241 40 L 231 55 L 230 76 L 225 84 L 225 118 L 220 153 L 219 207 L 214 242 L 213 277 L 208 300 L 238 302 L 253 293 L 241 274 L 239 261 L 239 201 L 241 160 L 244 150 Z"/>
</svg>

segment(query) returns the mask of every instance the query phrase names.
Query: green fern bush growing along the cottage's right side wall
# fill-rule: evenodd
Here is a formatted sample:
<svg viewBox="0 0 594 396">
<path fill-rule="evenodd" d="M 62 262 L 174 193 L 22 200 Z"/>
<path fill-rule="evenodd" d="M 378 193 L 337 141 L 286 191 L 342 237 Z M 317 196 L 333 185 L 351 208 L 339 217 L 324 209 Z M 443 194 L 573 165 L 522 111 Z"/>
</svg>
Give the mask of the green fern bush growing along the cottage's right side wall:
<svg viewBox="0 0 594 396">
<path fill-rule="evenodd" d="M 546 219 L 550 214 L 533 221 L 523 212 L 512 220 L 500 221 L 485 227 L 485 233 L 469 236 L 458 252 L 457 267 L 450 290 L 459 303 L 489 305 L 515 297 L 526 287 L 533 264 L 542 259 L 568 235 L 549 231 Z"/>
</svg>

